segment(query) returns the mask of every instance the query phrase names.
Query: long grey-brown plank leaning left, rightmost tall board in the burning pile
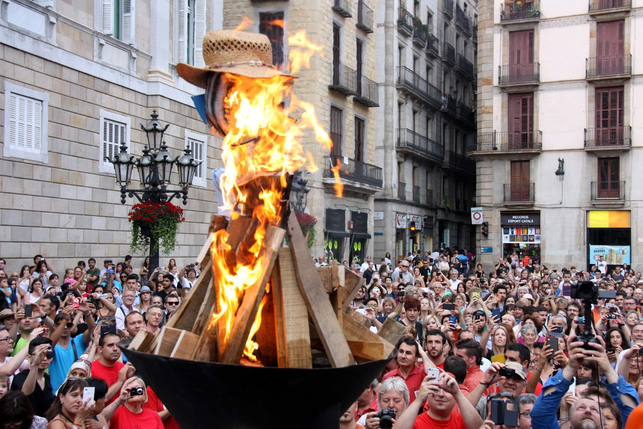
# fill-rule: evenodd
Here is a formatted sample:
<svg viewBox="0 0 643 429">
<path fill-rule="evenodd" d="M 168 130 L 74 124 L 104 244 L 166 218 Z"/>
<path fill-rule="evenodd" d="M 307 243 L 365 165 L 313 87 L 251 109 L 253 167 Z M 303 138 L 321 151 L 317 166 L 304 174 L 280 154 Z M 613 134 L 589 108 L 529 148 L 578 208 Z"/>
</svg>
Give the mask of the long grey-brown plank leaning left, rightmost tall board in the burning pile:
<svg viewBox="0 0 643 429">
<path fill-rule="evenodd" d="M 311 253 L 294 212 L 291 212 L 288 218 L 287 228 L 299 289 L 312 321 L 320 333 L 331 365 L 333 367 L 352 365 L 354 358 L 350 353 L 346 338 L 342 335 L 340 322 L 338 322 L 328 295 L 321 284 L 321 278 L 312 263 Z"/>
</svg>

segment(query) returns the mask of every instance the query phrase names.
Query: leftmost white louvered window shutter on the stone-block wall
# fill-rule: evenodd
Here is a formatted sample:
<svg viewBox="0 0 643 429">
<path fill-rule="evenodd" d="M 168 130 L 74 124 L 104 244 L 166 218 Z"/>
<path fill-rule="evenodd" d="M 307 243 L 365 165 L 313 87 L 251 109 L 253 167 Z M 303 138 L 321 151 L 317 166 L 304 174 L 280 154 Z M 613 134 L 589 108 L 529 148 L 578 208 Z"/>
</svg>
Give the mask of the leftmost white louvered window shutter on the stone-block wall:
<svg viewBox="0 0 643 429">
<path fill-rule="evenodd" d="M 9 141 L 21 151 L 40 153 L 42 147 L 42 102 L 11 93 Z"/>
</svg>

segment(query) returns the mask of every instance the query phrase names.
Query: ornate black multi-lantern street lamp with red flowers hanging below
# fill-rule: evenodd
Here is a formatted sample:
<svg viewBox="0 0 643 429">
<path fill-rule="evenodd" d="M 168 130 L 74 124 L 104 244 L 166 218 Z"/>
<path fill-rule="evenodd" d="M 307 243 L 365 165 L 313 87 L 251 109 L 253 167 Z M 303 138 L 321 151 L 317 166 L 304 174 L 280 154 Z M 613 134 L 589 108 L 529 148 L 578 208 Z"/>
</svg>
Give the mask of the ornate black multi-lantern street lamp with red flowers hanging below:
<svg viewBox="0 0 643 429">
<path fill-rule="evenodd" d="M 114 164 L 116 183 L 121 188 L 121 203 L 125 204 L 125 196 L 136 197 L 140 203 L 146 201 L 165 203 L 177 197 L 182 198 L 183 205 L 186 205 L 188 203 L 188 188 L 192 187 L 194 172 L 203 161 L 194 160 L 190 149 L 185 149 L 185 154 L 181 157 L 173 158 L 163 140 L 163 134 L 170 125 L 163 126 L 159 122 L 156 110 L 152 111 L 150 116 L 152 116 L 152 120 L 147 123 L 147 127 L 140 124 L 141 129 L 147 135 L 149 145 L 143 149 L 143 156 L 134 161 L 134 156 L 127 153 L 127 146 L 122 145 L 121 151 L 110 160 Z M 172 169 L 175 164 L 179 174 L 178 185 L 180 189 L 169 190 L 168 186 L 172 184 Z M 138 170 L 141 189 L 127 188 L 132 181 L 134 167 Z M 159 250 L 156 241 L 157 237 L 150 237 L 150 271 L 158 267 Z M 155 247 L 156 250 L 152 251 Z"/>
</svg>

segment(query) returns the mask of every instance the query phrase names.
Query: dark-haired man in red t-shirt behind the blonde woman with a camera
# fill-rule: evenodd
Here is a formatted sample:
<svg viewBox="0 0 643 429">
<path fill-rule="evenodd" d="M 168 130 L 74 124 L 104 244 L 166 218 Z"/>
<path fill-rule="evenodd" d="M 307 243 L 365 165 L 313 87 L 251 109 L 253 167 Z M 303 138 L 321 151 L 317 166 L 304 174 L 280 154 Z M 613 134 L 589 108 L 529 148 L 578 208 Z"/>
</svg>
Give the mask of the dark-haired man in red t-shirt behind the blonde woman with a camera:
<svg viewBox="0 0 643 429">
<path fill-rule="evenodd" d="M 120 394 L 123 383 L 134 376 L 134 367 L 127 362 L 123 365 L 118 361 L 121 351 L 118 348 L 120 337 L 114 333 L 107 333 L 98 340 L 98 360 L 91 363 L 91 376 L 102 378 L 109 386 L 107 390 L 107 404 L 111 404 Z"/>
</svg>

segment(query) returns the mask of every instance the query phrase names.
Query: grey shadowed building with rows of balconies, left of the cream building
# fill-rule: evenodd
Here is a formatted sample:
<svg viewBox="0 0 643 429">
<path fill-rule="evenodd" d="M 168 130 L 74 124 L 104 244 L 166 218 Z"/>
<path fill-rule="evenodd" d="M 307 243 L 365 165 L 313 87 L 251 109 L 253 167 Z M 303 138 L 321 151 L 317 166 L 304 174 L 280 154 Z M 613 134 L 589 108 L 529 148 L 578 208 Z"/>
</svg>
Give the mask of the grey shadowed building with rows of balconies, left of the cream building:
<svg viewBox="0 0 643 429">
<path fill-rule="evenodd" d="M 381 0 L 377 36 L 377 260 L 442 243 L 470 248 L 476 3 Z"/>
</svg>

